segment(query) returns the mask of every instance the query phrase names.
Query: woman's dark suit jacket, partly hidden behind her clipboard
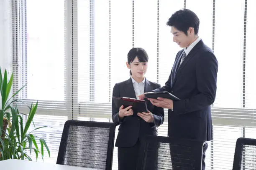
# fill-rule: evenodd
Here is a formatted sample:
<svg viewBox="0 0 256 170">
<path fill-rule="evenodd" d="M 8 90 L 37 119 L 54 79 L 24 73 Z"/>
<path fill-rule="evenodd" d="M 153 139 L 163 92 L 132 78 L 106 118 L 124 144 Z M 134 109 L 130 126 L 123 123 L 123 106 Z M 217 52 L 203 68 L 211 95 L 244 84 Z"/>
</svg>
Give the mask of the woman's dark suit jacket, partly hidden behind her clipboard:
<svg viewBox="0 0 256 170">
<path fill-rule="evenodd" d="M 145 78 L 144 92 L 151 92 L 159 87 L 161 87 L 159 84 L 150 82 Z M 113 96 L 136 98 L 131 78 L 115 84 Z M 112 101 L 112 120 L 120 124 L 115 146 L 132 147 L 136 144 L 138 138 L 141 138 L 143 135 L 156 135 L 156 127 L 164 122 L 164 109 L 152 105 L 148 100 L 146 101 L 148 110 L 154 114 L 153 123 L 148 123 L 138 116 L 127 116 L 120 121 L 118 117 L 119 107 L 116 107 Z"/>
</svg>

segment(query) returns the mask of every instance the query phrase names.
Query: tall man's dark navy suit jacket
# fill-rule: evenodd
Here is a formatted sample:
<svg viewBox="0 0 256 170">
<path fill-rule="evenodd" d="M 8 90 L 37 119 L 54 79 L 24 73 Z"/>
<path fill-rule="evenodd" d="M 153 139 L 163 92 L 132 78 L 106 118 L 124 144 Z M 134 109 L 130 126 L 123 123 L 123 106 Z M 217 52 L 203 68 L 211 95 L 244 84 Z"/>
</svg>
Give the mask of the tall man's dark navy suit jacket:
<svg viewBox="0 0 256 170">
<path fill-rule="evenodd" d="M 215 100 L 218 61 L 200 40 L 179 66 L 184 50 L 175 58 L 165 86 L 153 90 L 169 91 L 179 97 L 168 111 L 168 135 L 175 138 L 212 140 L 211 105 Z"/>
</svg>

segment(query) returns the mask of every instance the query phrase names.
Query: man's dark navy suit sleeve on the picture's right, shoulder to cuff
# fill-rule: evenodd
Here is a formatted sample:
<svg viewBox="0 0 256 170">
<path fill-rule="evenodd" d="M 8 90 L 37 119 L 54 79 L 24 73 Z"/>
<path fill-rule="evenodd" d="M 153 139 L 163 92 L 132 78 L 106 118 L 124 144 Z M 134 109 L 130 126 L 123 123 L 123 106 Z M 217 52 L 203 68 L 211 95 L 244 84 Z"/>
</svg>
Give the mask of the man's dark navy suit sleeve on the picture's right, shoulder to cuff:
<svg viewBox="0 0 256 170">
<path fill-rule="evenodd" d="M 202 53 L 196 63 L 199 93 L 185 100 L 174 101 L 174 114 L 184 114 L 212 105 L 216 96 L 218 61 L 212 52 Z"/>
</svg>

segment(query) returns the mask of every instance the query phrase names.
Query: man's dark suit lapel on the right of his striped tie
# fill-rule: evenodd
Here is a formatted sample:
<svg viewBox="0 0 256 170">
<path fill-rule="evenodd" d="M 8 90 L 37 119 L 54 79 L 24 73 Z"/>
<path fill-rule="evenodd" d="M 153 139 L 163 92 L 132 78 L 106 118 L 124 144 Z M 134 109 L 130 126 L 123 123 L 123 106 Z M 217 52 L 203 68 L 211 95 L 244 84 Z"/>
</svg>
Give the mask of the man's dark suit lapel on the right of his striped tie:
<svg viewBox="0 0 256 170">
<path fill-rule="evenodd" d="M 202 45 L 203 45 L 203 42 L 202 42 L 202 40 L 200 40 L 200 41 L 195 45 L 195 47 L 192 48 L 192 50 L 189 52 L 189 54 L 187 55 L 187 57 L 185 58 L 185 60 L 182 62 L 182 65 L 180 65 L 180 66 L 178 67 L 179 62 L 177 62 L 176 68 L 177 68 L 177 67 L 178 67 L 178 68 L 177 68 L 177 70 L 176 70 L 176 72 L 175 72 L 175 75 L 174 75 L 174 77 L 173 77 L 172 87 L 173 87 L 174 83 L 176 82 L 177 77 L 179 76 L 179 74 L 182 73 L 182 70 L 184 69 L 184 67 L 186 66 L 186 64 L 189 62 L 189 60 L 191 60 L 191 59 L 195 56 L 196 52 L 198 51 L 198 49 L 199 49 L 200 47 L 202 47 Z M 179 60 L 177 60 L 177 61 L 180 61 L 180 60 L 181 60 L 181 57 L 182 57 L 182 54 L 180 55 Z M 171 87 L 171 88 L 172 88 L 172 87 Z"/>
</svg>

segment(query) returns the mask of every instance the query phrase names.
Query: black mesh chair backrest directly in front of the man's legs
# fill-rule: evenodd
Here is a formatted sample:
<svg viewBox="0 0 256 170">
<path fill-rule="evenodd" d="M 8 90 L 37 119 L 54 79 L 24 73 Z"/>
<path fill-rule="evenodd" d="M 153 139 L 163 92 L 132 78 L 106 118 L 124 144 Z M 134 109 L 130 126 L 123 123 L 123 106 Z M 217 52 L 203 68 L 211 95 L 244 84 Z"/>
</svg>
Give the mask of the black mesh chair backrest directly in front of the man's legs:
<svg viewBox="0 0 256 170">
<path fill-rule="evenodd" d="M 201 170 L 205 141 L 148 135 L 137 170 Z"/>
</svg>

